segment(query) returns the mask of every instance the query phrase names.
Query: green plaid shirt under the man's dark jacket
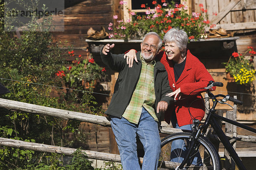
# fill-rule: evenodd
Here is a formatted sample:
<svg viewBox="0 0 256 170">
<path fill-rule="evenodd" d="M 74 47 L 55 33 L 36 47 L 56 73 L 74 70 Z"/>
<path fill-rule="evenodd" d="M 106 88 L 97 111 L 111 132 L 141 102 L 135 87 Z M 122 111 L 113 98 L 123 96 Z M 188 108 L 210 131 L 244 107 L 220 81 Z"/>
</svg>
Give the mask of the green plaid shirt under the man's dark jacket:
<svg viewBox="0 0 256 170">
<path fill-rule="evenodd" d="M 156 99 L 154 91 L 154 65 L 156 62 L 146 63 L 141 55 L 140 58 L 142 61 L 140 79 L 122 117 L 131 123 L 138 124 L 142 107 L 144 107 L 155 121 L 158 122 L 153 108 Z"/>
</svg>

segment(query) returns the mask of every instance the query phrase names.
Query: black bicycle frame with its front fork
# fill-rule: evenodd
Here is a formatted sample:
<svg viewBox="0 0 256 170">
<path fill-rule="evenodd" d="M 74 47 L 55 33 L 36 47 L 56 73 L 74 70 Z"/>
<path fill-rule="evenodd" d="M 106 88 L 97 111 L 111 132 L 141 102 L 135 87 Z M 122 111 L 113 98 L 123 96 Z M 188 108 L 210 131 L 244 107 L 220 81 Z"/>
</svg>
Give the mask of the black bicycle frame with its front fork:
<svg viewBox="0 0 256 170">
<path fill-rule="evenodd" d="M 236 153 L 236 150 L 234 150 L 233 146 L 230 144 L 229 140 L 227 139 L 227 136 L 225 135 L 225 133 L 223 132 L 223 130 L 221 129 L 221 127 L 218 125 L 217 119 L 223 120 L 224 122 L 230 123 L 232 125 L 236 125 L 238 127 L 241 127 L 243 129 L 249 130 L 251 132 L 256 133 L 256 129 L 243 125 L 239 122 L 235 122 L 233 120 L 227 119 L 223 116 L 219 116 L 215 113 L 215 106 L 218 103 L 218 100 L 215 99 L 215 96 L 209 91 L 207 90 L 207 93 L 209 95 L 209 97 L 212 99 L 213 101 L 213 106 L 212 108 L 209 110 L 209 113 L 206 117 L 206 120 L 204 122 L 203 125 L 200 125 L 198 127 L 198 130 L 193 130 L 192 131 L 192 136 L 191 136 L 191 147 L 189 147 L 187 155 L 185 156 L 183 162 L 180 164 L 180 166 L 178 167 L 179 169 L 183 169 L 184 165 L 186 163 L 189 164 L 188 160 L 189 160 L 189 156 L 192 153 L 192 150 L 197 147 L 196 146 L 196 142 L 197 139 L 199 137 L 199 135 L 204 135 L 207 132 L 207 128 L 209 127 L 209 125 L 212 125 L 212 128 L 215 130 L 218 138 L 220 139 L 220 141 L 222 142 L 222 144 L 224 145 L 224 147 L 227 149 L 228 153 L 230 154 L 231 158 L 234 160 L 234 162 L 236 163 L 237 167 L 239 168 L 239 170 L 246 170 L 242 161 L 239 159 L 238 154 Z M 196 133 L 196 134 L 194 134 Z M 193 137 L 195 137 L 193 139 Z"/>
</svg>

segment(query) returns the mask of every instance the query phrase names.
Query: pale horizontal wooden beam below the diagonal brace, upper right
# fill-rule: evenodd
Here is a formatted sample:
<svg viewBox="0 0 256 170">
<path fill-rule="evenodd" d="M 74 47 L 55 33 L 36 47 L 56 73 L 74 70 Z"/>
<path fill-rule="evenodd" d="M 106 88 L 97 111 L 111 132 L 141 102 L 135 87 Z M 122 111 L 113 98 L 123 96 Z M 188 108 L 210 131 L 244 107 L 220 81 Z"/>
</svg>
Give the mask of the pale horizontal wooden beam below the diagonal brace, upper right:
<svg viewBox="0 0 256 170">
<path fill-rule="evenodd" d="M 227 31 L 256 29 L 256 22 L 216 24 L 216 26 L 212 29 L 217 28 L 223 28 Z M 209 31 L 209 27 L 205 28 L 205 30 Z"/>
</svg>

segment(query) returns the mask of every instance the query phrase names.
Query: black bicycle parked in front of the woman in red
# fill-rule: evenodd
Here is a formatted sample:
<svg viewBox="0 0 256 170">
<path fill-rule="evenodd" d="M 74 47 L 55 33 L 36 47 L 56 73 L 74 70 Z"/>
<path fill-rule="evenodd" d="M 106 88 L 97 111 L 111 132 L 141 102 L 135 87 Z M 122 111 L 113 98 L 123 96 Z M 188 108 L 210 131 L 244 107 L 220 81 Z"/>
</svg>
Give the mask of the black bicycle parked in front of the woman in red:
<svg viewBox="0 0 256 170">
<path fill-rule="evenodd" d="M 220 125 L 218 125 L 217 120 L 223 120 L 224 122 L 236 125 L 253 133 L 256 133 L 256 129 L 216 114 L 215 107 L 217 103 L 224 104 L 228 100 L 234 104 L 242 105 L 243 103 L 229 95 L 213 95 L 210 92 L 213 86 L 222 87 L 223 83 L 210 81 L 205 88 L 209 98 L 212 99 L 213 102 L 212 108 L 209 109 L 205 121 L 201 123 L 198 119 L 193 119 L 192 131 L 183 130 L 181 133 L 166 136 L 161 140 L 160 167 L 161 164 L 165 164 L 165 166 L 168 164 L 167 167 L 172 167 L 171 169 L 175 170 L 221 170 L 221 159 L 218 155 L 218 151 L 206 137 L 207 128 L 211 125 L 239 170 L 246 170 L 227 136 L 225 136 Z M 217 97 L 223 97 L 223 99 L 217 99 Z M 174 147 L 173 145 L 177 142 L 182 142 L 182 144 L 172 149 L 172 147 Z M 172 160 L 175 160 L 175 162 L 172 162 Z"/>
</svg>

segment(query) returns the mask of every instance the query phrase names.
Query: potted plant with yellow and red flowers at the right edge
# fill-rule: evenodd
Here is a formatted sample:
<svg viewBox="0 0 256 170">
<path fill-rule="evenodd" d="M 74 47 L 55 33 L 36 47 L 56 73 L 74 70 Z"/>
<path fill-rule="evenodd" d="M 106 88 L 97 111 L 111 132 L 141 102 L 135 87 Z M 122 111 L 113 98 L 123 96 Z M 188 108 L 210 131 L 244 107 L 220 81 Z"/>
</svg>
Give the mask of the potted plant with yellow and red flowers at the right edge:
<svg viewBox="0 0 256 170">
<path fill-rule="evenodd" d="M 253 58 L 256 52 L 252 47 L 247 48 L 244 54 L 233 52 L 228 62 L 223 63 L 226 68 L 227 76 L 230 74 L 230 77 L 233 78 L 233 82 L 240 85 L 250 85 L 253 80 L 255 80 L 256 70 L 253 66 Z M 246 59 L 245 56 L 250 56 L 250 59 Z"/>
</svg>

